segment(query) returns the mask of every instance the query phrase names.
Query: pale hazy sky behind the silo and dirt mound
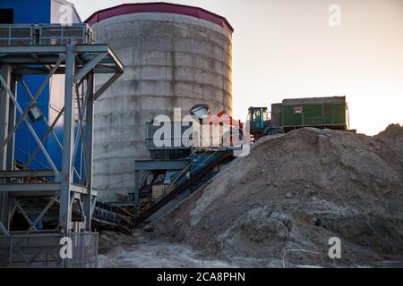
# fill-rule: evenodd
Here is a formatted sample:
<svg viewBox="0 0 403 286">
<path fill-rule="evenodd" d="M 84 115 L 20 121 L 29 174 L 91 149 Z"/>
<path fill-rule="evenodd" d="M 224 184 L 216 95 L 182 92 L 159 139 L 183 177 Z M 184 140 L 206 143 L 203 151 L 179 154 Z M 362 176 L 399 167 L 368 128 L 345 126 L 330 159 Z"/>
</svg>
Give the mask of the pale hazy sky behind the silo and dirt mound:
<svg viewBox="0 0 403 286">
<path fill-rule="evenodd" d="M 70 2 L 84 20 L 130 1 Z M 237 119 L 285 98 L 346 96 L 351 129 L 374 135 L 403 124 L 403 0 L 166 2 L 219 13 L 234 27 Z"/>
</svg>

